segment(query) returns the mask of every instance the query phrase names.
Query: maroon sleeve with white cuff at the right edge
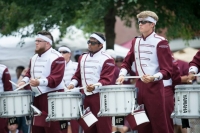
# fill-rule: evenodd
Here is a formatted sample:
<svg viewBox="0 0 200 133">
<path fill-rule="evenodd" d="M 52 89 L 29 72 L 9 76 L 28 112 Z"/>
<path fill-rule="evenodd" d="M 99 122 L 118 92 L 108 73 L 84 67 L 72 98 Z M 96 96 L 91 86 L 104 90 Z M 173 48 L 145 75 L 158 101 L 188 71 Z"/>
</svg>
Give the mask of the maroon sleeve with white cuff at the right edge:
<svg viewBox="0 0 200 133">
<path fill-rule="evenodd" d="M 193 60 L 189 63 L 189 71 L 194 71 L 198 73 L 200 70 L 200 50 L 196 53 Z"/>
</svg>

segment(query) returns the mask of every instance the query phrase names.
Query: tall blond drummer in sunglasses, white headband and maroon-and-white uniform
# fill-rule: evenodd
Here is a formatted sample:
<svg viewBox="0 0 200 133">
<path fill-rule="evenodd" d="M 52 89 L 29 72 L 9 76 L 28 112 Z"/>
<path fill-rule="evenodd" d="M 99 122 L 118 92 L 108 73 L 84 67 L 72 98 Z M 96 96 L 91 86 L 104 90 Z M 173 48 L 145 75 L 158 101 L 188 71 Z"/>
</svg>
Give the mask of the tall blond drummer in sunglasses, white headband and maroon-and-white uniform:
<svg viewBox="0 0 200 133">
<path fill-rule="evenodd" d="M 141 37 L 132 41 L 132 47 L 122 63 L 119 78 L 131 71 L 135 62 L 138 104 L 144 104 L 150 124 L 138 129 L 139 133 L 169 133 L 165 116 L 164 84 L 162 80 L 171 78 L 172 56 L 168 41 L 154 32 L 158 16 L 152 11 L 143 11 L 137 15 Z"/>
</svg>

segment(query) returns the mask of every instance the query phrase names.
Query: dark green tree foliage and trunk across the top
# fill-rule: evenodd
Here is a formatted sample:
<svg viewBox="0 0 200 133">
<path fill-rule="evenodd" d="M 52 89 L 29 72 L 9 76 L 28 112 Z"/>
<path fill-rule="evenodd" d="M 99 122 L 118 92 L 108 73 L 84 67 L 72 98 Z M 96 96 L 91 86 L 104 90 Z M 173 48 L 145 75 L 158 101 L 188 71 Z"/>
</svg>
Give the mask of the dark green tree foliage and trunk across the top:
<svg viewBox="0 0 200 133">
<path fill-rule="evenodd" d="M 199 0 L 1 0 L 0 33 L 30 36 L 59 28 L 63 36 L 67 27 L 76 25 L 85 32 L 104 32 L 107 48 L 113 48 L 115 17 L 130 26 L 139 12 L 151 10 L 159 16 L 156 32 L 167 28 L 168 39 L 191 39 L 200 33 L 199 8 Z M 19 30 L 27 26 L 30 30 Z"/>
</svg>

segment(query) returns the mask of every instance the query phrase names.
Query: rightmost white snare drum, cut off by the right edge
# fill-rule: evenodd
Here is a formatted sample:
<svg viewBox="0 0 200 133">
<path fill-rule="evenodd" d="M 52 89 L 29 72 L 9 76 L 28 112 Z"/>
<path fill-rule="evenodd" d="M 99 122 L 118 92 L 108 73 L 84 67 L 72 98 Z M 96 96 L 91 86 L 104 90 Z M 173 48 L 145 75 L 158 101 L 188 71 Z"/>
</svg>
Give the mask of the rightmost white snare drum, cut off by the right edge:
<svg viewBox="0 0 200 133">
<path fill-rule="evenodd" d="M 175 88 L 175 117 L 200 118 L 200 85 L 177 85 Z"/>
</svg>

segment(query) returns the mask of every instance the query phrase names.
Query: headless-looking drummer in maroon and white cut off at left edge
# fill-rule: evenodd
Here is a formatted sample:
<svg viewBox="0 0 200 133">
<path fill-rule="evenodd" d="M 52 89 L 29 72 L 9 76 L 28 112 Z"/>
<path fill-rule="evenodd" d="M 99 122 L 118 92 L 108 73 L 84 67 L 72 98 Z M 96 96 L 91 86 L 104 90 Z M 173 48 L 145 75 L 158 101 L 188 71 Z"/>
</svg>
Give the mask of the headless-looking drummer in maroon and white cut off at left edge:
<svg viewBox="0 0 200 133">
<path fill-rule="evenodd" d="M 0 92 L 12 91 L 12 84 L 9 82 L 11 80 L 8 68 L 0 64 Z M 7 120 L 5 118 L 0 118 L 0 133 L 7 133 Z"/>
</svg>

